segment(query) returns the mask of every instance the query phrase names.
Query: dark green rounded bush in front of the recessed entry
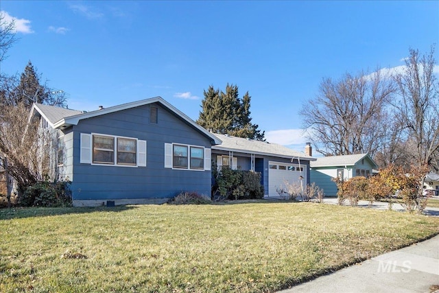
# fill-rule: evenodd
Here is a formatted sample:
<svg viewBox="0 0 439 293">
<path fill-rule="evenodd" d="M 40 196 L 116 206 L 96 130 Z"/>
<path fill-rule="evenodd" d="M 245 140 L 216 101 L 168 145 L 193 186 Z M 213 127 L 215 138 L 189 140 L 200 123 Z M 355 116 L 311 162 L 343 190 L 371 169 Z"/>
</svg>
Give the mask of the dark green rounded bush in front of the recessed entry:
<svg viewBox="0 0 439 293">
<path fill-rule="evenodd" d="M 223 166 L 221 171 L 214 169 L 214 196 L 217 192 L 228 200 L 248 200 L 263 198 L 261 174 L 252 171 L 233 170 Z"/>
</svg>

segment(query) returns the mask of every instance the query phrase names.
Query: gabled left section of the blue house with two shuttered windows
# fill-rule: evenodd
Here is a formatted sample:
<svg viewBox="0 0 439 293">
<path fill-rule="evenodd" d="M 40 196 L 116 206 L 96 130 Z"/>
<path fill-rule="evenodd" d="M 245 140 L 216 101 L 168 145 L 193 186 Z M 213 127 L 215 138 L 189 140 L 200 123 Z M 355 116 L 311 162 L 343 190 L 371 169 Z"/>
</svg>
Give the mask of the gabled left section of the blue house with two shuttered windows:
<svg viewBox="0 0 439 293">
<path fill-rule="evenodd" d="M 34 104 L 31 113 L 58 139 L 53 174 L 71 180 L 74 206 L 211 194 L 211 147 L 221 141 L 161 97 L 88 113 Z"/>
</svg>

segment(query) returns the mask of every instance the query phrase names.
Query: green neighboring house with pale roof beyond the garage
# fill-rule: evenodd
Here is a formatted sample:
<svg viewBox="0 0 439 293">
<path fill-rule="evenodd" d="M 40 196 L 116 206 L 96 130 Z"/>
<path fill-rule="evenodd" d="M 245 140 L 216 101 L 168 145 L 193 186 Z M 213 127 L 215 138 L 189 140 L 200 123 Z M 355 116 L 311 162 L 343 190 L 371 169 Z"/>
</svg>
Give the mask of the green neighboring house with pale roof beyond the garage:
<svg viewBox="0 0 439 293">
<path fill-rule="evenodd" d="M 326 196 L 337 196 L 333 178 L 348 180 L 355 176 L 368 177 L 378 166 L 368 154 L 324 156 L 311 161 L 311 182 L 323 189 Z"/>
</svg>

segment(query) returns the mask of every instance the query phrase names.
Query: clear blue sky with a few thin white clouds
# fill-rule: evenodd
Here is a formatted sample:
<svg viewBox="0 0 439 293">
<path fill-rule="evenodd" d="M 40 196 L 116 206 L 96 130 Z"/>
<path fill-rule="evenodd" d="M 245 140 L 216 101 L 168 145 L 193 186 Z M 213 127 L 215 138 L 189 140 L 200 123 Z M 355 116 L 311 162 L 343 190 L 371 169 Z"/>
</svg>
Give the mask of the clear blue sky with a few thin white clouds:
<svg viewBox="0 0 439 293">
<path fill-rule="evenodd" d="M 268 141 L 297 150 L 298 111 L 322 78 L 399 67 L 410 47 L 439 40 L 439 1 L 2 0 L 0 10 L 20 38 L 1 72 L 31 60 L 69 108 L 161 96 L 195 120 L 204 89 L 237 84 Z"/>
</svg>

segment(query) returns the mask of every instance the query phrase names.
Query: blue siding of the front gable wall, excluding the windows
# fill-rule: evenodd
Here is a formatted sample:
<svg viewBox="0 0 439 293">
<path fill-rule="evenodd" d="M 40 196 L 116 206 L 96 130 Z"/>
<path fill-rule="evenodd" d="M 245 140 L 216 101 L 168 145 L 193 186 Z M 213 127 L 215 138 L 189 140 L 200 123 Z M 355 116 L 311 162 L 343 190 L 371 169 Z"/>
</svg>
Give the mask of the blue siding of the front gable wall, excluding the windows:
<svg viewBox="0 0 439 293">
<path fill-rule="evenodd" d="M 84 119 L 73 126 L 73 200 L 169 198 L 181 191 L 211 194 L 211 171 L 165 169 L 165 143 L 211 148 L 211 142 L 160 104 L 158 124 L 150 124 L 149 106 Z M 80 163 L 80 133 L 133 137 L 147 141 L 146 167 Z"/>
</svg>

